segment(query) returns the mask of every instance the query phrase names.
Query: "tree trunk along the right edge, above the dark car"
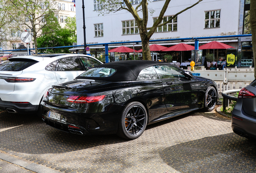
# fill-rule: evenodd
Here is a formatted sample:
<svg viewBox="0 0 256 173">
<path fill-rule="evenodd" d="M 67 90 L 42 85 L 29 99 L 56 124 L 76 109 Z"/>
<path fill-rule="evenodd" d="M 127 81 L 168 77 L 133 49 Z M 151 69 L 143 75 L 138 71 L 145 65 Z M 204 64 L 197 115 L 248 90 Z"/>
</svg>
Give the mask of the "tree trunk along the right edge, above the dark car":
<svg viewBox="0 0 256 173">
<path fill-rule="evenodd" d="M 251 0 L 250 2 L 250 24 L 251 24 L 251 31 L 252 31 L 254 78 L 256 78 L 256 0 Z"/>
</svg>

